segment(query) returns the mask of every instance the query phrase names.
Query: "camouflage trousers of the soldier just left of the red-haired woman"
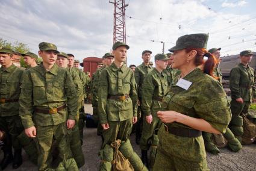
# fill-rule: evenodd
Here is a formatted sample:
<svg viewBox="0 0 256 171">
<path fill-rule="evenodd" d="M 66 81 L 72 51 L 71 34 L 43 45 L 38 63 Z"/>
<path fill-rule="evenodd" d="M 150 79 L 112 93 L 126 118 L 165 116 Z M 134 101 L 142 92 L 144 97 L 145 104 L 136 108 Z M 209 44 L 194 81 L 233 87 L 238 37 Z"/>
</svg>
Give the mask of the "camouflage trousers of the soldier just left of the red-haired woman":
<svg viewBox="0 0 256 171">
<path fill-rule="evenodd" d="M 159 129 L 161 126 L 161 120 L 157 116 L 152 116 L 153 120 L 151 124 L 146 122 L 146 116 L 143 116 L 143 126 L 142 126 L 142 137 L 140 138 L 140 149 L 148 150 L 149 140 L 153 137 L 155 129 Z"/>
</svg>

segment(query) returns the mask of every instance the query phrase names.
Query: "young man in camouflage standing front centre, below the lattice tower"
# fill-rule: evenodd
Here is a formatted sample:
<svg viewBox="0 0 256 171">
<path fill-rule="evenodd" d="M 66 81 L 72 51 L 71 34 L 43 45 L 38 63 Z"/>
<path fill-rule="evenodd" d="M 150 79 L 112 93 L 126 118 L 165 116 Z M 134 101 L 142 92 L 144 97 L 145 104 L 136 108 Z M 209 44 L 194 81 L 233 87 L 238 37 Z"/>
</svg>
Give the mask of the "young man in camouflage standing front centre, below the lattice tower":
<svg viewBox="0 0 256 171">
<path fill-rule="evenodd" d="M 133 151 L 129 137 L 132 125 L 137 122 L 136 81 L 133 71 L 124 64 L 129 46 L 122 42 L 116 42 L 112 49 L 114 62 L 102 70 L 99 78 L 101 80 L 98 93 L 99 122 L 104 129 L 101 154 L 108 154 L 108 157 L 113 158 L 113 152 L 111 153 L 113 149 L 110 149 L 110 144 L 121 140 L 130 146 L 130 149 L 120 149 L 120 152 L 131 163 L 136 161 L 135 164 L 132 163 L 133 167 L 140 165 L 140 169 L 143 169 L 142 161 L 136 153 L 131 153 L 132 156 L 126 155 Z M 136 160 L 134 160 L 135 158 Z M 105 161 L 102 155 L 101 160 L 102 168 Z"/>
</svg>

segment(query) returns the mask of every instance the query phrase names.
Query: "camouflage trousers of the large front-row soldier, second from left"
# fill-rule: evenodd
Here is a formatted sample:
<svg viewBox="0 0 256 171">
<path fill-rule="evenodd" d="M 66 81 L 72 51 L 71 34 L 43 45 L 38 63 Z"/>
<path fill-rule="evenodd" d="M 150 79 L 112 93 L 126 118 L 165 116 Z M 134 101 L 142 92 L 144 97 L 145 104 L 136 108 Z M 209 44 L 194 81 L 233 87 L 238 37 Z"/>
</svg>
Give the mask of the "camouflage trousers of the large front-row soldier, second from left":
<svg viewBox="0 0 256 171">
<path fill-rule="evenodd" d="M 37 125 L 36 130 L 37 135 L 35 141 L 39 153 L 37 160 L 39 170 L 51 168 L 53 141 L 56 143 L 59 152 L 58 157 L 60 157 L 61 161 L 72 157 L 69 140 L 67 138 L 67 131 L 72 130 L 67 130 L 66 122 L 50 126 Z"/>
</svg>

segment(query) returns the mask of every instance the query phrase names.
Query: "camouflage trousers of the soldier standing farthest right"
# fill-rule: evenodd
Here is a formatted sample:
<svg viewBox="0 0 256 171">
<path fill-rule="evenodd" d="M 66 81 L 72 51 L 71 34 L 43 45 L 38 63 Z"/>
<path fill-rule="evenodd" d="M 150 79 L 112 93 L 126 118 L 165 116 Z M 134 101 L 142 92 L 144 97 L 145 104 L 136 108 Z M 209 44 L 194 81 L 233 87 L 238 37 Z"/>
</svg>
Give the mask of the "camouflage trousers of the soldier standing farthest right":
<svg viewBox="0 0 256 171">
<path fill-rule="evenodd" d="M 236 101 L 236 99 L 232 99 L 230 102 L 230 109 L 232 113 L 232 119 L 229 123 L 229 128 L 233 132 L 233 134 L 241 139 L 240 137 L 243 135 L 243 117 L 241 114 L 247 114 L 248 109 L 251 105 L 251 102 L 243 102 L 240 104 Z"/>
</svg>

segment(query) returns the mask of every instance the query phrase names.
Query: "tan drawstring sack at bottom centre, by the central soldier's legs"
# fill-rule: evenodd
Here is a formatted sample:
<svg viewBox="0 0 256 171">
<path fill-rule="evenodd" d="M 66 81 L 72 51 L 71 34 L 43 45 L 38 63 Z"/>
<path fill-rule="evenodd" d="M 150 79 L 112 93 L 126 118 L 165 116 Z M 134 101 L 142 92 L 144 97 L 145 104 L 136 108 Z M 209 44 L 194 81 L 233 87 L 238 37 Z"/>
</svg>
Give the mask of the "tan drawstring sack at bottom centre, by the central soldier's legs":
<svg viewBox="0 0 256 171">
<path fill-rule="evenodd" d="M 121 145 L 121 140 L 116 140 L 111 143 L 111 146 L 114 148 L 114 160 L 112 161 L 112 166 L 114 171 L 125 170 L 125 171 L 133 171 L 133 166 L 131 166 L 130 161 L 123 156 L 123 154 L 119 151 L 119 147 Z"/>
</svg>

